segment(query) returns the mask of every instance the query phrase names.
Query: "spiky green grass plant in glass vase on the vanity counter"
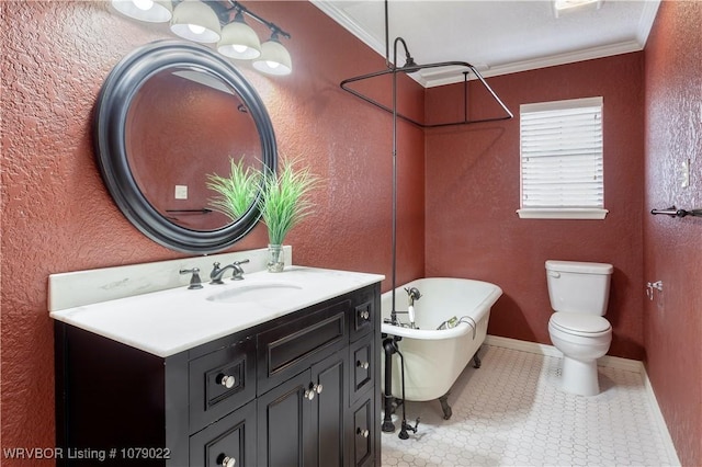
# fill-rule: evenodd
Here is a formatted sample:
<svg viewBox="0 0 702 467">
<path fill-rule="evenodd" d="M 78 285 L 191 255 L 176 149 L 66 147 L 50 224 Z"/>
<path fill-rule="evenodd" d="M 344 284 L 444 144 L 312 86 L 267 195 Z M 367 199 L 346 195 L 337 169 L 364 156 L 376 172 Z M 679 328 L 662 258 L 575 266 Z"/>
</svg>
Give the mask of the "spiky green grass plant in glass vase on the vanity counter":
<svg viewBox="0 0 702 467">
<path fill-rule="evenodd" d="M 258 198 L 261 219 L 268 228 L 270 272 L 281 272 L 284 266 L 283 240 L 287 232 L 313 213 L 309 193 L 319 179 L 309 168 L 298 169 L 297 160 L 284 160 L 280 173 L 270 170 L 262 173 L 262 196 Z"/>
</svg>

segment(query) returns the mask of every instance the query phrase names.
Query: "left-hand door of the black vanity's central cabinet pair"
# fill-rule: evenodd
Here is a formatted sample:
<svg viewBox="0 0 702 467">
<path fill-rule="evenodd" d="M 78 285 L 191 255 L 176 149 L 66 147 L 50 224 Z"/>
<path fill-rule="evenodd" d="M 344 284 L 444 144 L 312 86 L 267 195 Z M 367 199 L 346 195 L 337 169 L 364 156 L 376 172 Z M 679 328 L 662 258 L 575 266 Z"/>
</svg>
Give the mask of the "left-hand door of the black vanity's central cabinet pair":
<svg viewBox="0 0 702 467">
<path fill-rule="evenodd" d="M 312 452 L 309 369 L 258 399 L 258 463 L 260 466 L 303 466 Z"/>
</svg>

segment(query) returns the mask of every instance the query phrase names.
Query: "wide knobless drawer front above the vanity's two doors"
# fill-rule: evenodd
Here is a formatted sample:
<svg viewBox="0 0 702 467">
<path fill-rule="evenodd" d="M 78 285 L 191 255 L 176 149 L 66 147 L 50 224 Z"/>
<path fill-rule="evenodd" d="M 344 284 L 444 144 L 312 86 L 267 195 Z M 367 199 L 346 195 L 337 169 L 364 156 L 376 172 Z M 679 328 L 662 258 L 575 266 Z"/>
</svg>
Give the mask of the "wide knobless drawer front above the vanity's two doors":
<svg viewBox="0 0 702 467">
<path fill-rule="evenodd" d="M 344 348 L 350 307 L 339 301 L 258 334 L 258 394 Z"/>
</svg>

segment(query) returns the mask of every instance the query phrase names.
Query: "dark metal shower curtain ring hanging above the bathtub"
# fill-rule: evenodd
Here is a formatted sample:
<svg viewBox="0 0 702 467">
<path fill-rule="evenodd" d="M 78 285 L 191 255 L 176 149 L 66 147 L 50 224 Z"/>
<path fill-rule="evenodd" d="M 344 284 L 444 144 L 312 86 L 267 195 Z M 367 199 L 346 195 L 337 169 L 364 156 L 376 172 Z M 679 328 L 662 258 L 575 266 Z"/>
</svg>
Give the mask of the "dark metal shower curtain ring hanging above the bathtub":
<svg viewBox="0 0 702 467">
<path fill-rule="evenodd" d="M 397 39 L 401 41 L 401 37 L 398 37 Z M 396 39 L 396 41 L 397 41 Z M 404 41 L 403 41 L 403 45 L 405 45 Z M 406 46 L 405 46 L 406 47 Z M 397 53 L 397 50 L 396 50 Z M 411 57 L 409 56 L 409 53 L 407 54 L 409 60 L 411 61 Z M 387 60 L 386 60 L 387 61 Z M 389 66 L 389 61 L 388 61 L 388 66 Z M 463 71 L 463 119 L 462 121 L 457 121 L 457 122 L 450 122 L 450 123 L 438 123 L 438 124 L 423 124 L 421 122 L 417 122 L 414 118 L 410 118 L 406 115 L 403 115 L 400 113 L 395 112 L 393 109 L 388 107 L 387 105 L 384 105 L 377 101 L 375 101 L 374 99 L 369 98 L 367 95 L 362 94 L 360 91 L 356 91 L 355 89 L 350 88 L 348 84 L 353 83 L 353 82 L 358 82 L 358 81 L 363 81 L 366 79 L 371 79 L 371 78 L 376 78 L 380 76 L 384 76 L 384 75 L 397 75 L 397 73 L 411 73 L 415 71 L 419 71 L 421 69 L 424 68 L 439 68 L 439 67 L 465 67 L 467 68 L 469 71 Z M 497 117 L 489 117 L 489 118 L 479 118 L 479 119 L 469 119 L 468 118 L 468 103 L 467 103 L 467 94 L 468 94 L 468 73 L 473 71 L 473 73 L 475 75 L 475 77 L 480 81 L 480 83 L 485 87 L 485 89 L 487 90 L 487 92 L 492 96 L 492 99 L 495 100 L 495 102 L 497 102 L 499 104 L 499 106 L 502 109 L 502 111 L 505 111 L 505 115 L 503 116 L 497 116 Z M 498 98 L 498 95 L 495 93 L 495 91 L 492 91 L 492 88 L 490 88 L 490 86 L 487 83 L 487 81 L 485 81 L 485 78 L 483 78 L 483 75 L 480 75 L 480 72 L 471 64 L 466 62 L 466 61 L 441 61 L 441 62 L 435 62 L 435 64 L 428 64 L 428 65 L 416 65 L 414 62 L 410 62 L 409 65 L 405 65 L 404 67 L 392 67 L 385 70 L 381 70 L 381 71 L 375 71 L 375 72 L 371 72 L 367 75 L 361 75 L 358 77 L 353 77 L 353 78 L 347 78 L 343 81 L 341 81 L 340 83 L 341 89 L 343 89 L 344 91 L 355 95 L 356 98 L 375 105 L 376 107 L 388 112 L 390 114 L 395 114 L 397 115 L 398 118 L 404 119 L 405 122 L 409 122 L 412 125 L 417 125 L 420 128 L 437 128 L 437 127 L 442 127 L 442 126 L 455 126 L 455 125 L 469 125 L 469 124 L 475 124 L 475 123 L 485 123 L 485 122 L 497 122 L 497 121 L 502 121 L 502 119 L 510 119 L 512 118 L 514 115 L 510 112 L 509 109 L 507 109 L 507 105 L 505 105 L 505 103 L 500 100 L 500 98 Z"/>
</svg>

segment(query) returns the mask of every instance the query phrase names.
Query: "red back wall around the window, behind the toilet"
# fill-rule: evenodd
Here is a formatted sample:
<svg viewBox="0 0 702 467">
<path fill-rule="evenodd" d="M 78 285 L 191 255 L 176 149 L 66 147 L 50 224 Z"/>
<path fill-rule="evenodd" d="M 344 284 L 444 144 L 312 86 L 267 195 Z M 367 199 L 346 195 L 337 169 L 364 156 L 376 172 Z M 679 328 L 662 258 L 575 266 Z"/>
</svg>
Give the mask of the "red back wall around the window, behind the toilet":
<svg viewBox="0 0 702 467">
<path fill-rule="evenodd" d="M 516 118 L 427 134 L 426 272 L 502 287 L 490 315 L 491 334 L 551 343 L 544 262 L 608 262 L 614 265 L 610 354 L 644 356 L 642 73 L 643 53 L 636 53 L 490 78 Z M 462 93 L 463 84 L 431 89 L 428 102 L 453 114 Z M 477 111 L 482 98 L 472 95 L 480 101 Z M 607 218 L 520 219 L 520 104 L 596 95 L 603 96 Z"/>
</svg>

